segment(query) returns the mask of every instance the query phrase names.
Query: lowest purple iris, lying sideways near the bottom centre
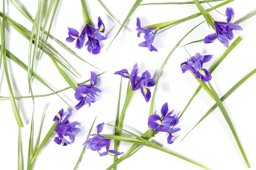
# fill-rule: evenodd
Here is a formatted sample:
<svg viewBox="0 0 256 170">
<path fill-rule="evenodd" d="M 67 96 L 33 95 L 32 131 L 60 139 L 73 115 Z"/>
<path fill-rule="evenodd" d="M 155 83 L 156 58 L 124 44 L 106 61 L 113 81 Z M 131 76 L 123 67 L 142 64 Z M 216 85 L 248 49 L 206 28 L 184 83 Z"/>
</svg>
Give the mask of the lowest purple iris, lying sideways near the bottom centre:
<svg viewBox="0 0 256 170">
<path fill-rule="evenodd" d="M 91 149 L 92 151 L 97 151 L 99 153 L 99 156 L 105 156 L 105 155 L 111 155 L 111 156 L 117 156 L 123 154 L 120 152 L 117 152 L 116 150 L 109 150 L 111 139 L 107 139 L 105 136 L 99 135 L 99 133 L 102 132 L 103 126 L 105 123 L 101 123 L 96 126 L 95 128 L 95 134 L 89 134 L 89 136 L 93 136 L 92 138 L 89 138 L 86 142 L 84 142 L 84 145 L 88 145 L 87 149 Z M 100 153 L 99 151 L 102 149 L 102 147 L 106 146 L 106 151 L 103 153 Z"/>
</svg>

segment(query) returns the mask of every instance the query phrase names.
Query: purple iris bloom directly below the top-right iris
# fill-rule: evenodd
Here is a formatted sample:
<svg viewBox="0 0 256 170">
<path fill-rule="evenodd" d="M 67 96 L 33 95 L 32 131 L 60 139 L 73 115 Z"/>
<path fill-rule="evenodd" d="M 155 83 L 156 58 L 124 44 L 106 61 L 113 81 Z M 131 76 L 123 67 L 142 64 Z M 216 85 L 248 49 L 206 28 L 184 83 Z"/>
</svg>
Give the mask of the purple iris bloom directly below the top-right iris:
<svg viewBox="0 0 256 170">
<path fill-rule="evenodd" d="M 212 55 L 202 56 L 199 53 L 196 53 L 195 56 L 187 58 L 186 62 L 180 64 L 182 73 L 186 71 L 192 71 L 195 74 L 196 79 L 201 79 L 202 82 L 208 82 L 212 79 L 212 75 L 203 68 L 203 64 L 212 59 Z"/>
</svg>

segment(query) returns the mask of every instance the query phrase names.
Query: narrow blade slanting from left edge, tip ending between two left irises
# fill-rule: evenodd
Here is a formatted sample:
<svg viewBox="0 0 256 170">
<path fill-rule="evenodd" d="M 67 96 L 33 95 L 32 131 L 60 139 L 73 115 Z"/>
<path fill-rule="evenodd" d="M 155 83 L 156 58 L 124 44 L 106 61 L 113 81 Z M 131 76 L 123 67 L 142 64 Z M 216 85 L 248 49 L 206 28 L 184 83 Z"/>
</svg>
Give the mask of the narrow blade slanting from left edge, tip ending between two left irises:
<svg viewBox="0 0 256 170">
<path fill-rule="evenodd" d="M 12 59 L 16 64 L 18 64 L 21 68 L 23 68 L 25 71 L 28 71 L 28 66 L 22 62 L 20 59 L 18 59 L 15 55 L 13 55 L 10 51 L 6 50 L 6 56 L 9 57 L 9 59 Z M 32 73 L 32 76 L 37 79 L 39 82 L 41 82 L 43 85 L 45 85 L 47 88 L 49 88 L 51 91 L 55 92 L 41 77 L 39 77 L 34 72 Z M 58 94 L 57 94 L 58 95 Z M 59 96 L 59 95 L 58 95 Z M 59 96 L 61 98 L 61 96 Z M 62 98 L 61 98 L 62 99 Z M 67 105 L 69 105 L 64 99 L 62 99 Z M 70 105 L 69 105 L 70 106 Z"/>
</svg>

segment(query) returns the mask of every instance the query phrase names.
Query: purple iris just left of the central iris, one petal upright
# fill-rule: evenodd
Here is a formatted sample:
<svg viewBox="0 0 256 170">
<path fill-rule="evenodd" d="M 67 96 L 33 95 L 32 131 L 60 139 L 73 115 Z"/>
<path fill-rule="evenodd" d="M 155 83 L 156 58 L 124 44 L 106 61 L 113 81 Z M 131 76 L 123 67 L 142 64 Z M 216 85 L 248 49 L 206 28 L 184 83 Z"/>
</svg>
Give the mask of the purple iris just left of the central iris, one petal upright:
<svg viewBox="0 0 256 170">
<path fill-rule="evenodd" d="M 99 96 L 97 92 L 101 93 L 102 91 L 99 88 L 96 88 L 97 84 L 97 75 L 91 71 L 90 85 L 77 85 L 75 98 L 80 102 L 75 106 L 78 111 L 85 102 L 90 106 L 91 103 L 96 102 L 95 95 Z"/>
</svg>

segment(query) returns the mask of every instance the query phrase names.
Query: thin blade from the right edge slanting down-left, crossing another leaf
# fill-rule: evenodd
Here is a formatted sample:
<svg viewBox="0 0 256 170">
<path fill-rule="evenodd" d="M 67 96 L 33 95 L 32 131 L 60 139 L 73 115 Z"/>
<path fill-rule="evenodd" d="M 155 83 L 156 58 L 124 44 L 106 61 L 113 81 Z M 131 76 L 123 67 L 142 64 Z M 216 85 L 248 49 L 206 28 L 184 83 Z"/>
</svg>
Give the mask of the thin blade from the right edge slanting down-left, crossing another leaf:
<svg viewBox="0 0 256 170">
<path fill-rule="evenodd" d="M 239 80 L 239 82 L 237 82 L 232 88 L 230 88 L 229 91 L 227 91 L 226 94 L 224 94 L 222 97 L 221 97 L 221 102 L 223 102 L 225 99 L 227 99 L 227 97 L 229 97 L 237 88 L 239 88 L 240 85 L 242 85 L 247 79 L 249 79 L 253 74 L 256 73 L 256 68 L 251 71 L 250 73 L 248 73 L 246 76 L 244 76 L 241 80 Z M 204 116 L 198 121 L 198 123 L 189 131 L 189 133 L 200 123 L 202 122 L 205 118 L 207 118 L 207 116 L 212 113 L 212 111 L 214 111 L 215 108 L 217 108 L 217 104 L 215 103 L 215 105 L 213 105 L 209 111 L 207 111 L 207 113 L 204 114 Z M 189 134 L 187 133 L 186 136 Z M 185 139 L 185 137 L 183 137 L 183 139 Z M 182 139 L 182 140 L 183 140 Z M 182 141 L 181 140 L 181 141 Z"/>
</svg>

